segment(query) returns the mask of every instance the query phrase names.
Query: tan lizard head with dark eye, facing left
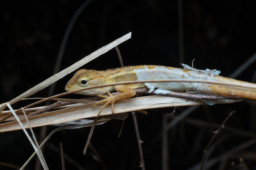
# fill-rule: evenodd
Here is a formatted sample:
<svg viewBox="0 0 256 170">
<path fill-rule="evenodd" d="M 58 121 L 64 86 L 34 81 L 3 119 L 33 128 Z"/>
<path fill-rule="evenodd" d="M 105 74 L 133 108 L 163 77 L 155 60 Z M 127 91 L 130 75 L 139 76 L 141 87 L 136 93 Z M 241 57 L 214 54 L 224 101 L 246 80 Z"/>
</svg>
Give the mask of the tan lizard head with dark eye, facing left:
<svg viewBox="0 0 256 170">
<path fill-rule="evenodd" d="M 90 69 L 80 69 L 74 76 L 68 81 L 65 90 L 79 90 L 86 87 L 93 87 L 106 83 L 106 78 L 100 71 Z M 98 94 L 106 94 L 111 87 L 102 87 L 97 89 L 83 90 L 76 92 L 77 94 L 83 94 L 86 96 L 95 96 Z"/>
</svg>

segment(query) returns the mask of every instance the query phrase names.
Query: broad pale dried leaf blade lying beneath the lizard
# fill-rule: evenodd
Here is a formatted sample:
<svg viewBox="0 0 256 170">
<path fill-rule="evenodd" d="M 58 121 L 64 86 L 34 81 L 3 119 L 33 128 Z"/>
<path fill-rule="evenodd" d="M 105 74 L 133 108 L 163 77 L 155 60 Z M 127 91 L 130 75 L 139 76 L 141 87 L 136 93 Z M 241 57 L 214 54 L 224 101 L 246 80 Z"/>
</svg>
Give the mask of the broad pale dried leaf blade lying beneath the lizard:
<svg viewBox="0 0 256 170">
<path fill-rule="evenodd" d="M 237 101 L 228 100 L 227 103 L 234 103 Z M 223 102 L 222 102 L 223 103 Z M 148 110 L 154 108 L 166 108 L 175 106 L 193 106 L 202 105 L 204 103 L 196 101 L 187 101 L 177 97 L 167 96 L 144 96 L 126 99 L 115 104 L 115 113 L 124 113 L 129 111 Z M 92 108 L 92 104 L 83 104 L 81 106 L 74 106 L 62 110 L 50 111 L 41 115 L 29 117 L 31 127 L 39 127 L 43 125 L 61 124 L 64 122 L 72 122 L 82 118 L 96 117 L 101 106 Z M 100 116 L 111 115 L 111 107 L 105 108 Z M 28 124 L 24 120 L 24 127 L 28 128 Z M 19 124 L 16 121 L 6 122 L 0 124 L 0 132 L 17 131 L 20 130 Z"/>
</svg>

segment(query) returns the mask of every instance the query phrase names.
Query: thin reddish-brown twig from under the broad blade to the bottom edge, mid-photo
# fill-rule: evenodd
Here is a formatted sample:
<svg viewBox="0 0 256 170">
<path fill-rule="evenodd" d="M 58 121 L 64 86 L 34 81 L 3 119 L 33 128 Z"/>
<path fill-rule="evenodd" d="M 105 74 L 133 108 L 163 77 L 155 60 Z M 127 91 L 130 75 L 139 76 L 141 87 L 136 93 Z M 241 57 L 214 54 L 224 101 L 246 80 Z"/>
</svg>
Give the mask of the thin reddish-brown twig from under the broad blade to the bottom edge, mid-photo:
<svg viewBox="0 0 256 170">
<path fill-rule="evenodd" d="M 132 111 L 132 119 L 133 119 L 133 123 L 134 123 L 134 129 L 136 132 L 136 137 L 137 137 L 137 141 L 138 141 L 138 148 L 139 148 L 139 152 L 140 152 L 140 167 L 142 170 L 145 170 L 145 163 L 144 163 L 144 158 L 143 158 L 143 151 L 142 151 L 142 146 L 141 146 L 141 138 L 140 138 L 140 131 L 139 131 L 139 127 L 138 127 L 138 123 L 137 123 L 137 118 L 136 115 L 134 113 L 134 111 Z"/>
</svg>

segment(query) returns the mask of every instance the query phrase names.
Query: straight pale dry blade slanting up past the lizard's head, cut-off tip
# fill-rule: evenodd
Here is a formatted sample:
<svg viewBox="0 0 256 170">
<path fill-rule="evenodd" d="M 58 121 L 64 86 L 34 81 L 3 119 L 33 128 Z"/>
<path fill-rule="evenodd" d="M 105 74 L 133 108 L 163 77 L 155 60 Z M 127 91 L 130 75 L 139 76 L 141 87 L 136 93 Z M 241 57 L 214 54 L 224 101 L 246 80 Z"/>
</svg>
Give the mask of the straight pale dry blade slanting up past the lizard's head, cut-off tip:
<svg viewBox="0 0 256 170">
<path fill-rule="evenodd" d="M 25 97 L 28 97 L 28 96 L 31 96 L 31 95 L 35 94 L 39 90 L 45 89 L 45 87 L 48 87 L 49 85 L 51 85 L 52 83 L 60 80 L 61 78 L 63 78 L 67 74 L 72 73 L 72 71 L 76 70 L 77 68 L 79 68 L 79 67 L 83 66 L 84 64 L 90 62 L 91 60 L 99 57 L 100 55 L 108 52 L 112 48 L 115 48 L 115 46 L 119 45 L 120 43 L 123 43 L 124 41 L 126 41 L 127 39 L 130 39 L 130 38 L 131 38 L 131 32 L 129 32 L 128 34 L 125 34 L 121 38 L 116 39 L 115 41 L 109 43 L 108 45 L 103 46 L 102 48 L 100 48 L 99 50 L 91 53 L 90 55 L 87 55 L 83 59 L 81 59 L 81 60 L 77 61 L 76 63 L 72 64 L 72 66 L 69 66 L 66 69 L 63 69 L 62 71 L 60 71 L 59 73 L 54 74 L 53 76 L 47 78 L 46 80 L 42 81 L 41 83 L 39 83 L 35 87 L 32 87 L 31 89 L 27 90 L 26 92 L 24 92 L 24 93 L 20 94 L 19 96 L 15 97 L 9 103 L 10 104 L 16 103 L 16 102 L 20 101 L 21 99 L 24 99 Z M 6 107 L 5 104 L 2 104 L 1 106 L 3 106 L 3 108 Z"/>
</svg>

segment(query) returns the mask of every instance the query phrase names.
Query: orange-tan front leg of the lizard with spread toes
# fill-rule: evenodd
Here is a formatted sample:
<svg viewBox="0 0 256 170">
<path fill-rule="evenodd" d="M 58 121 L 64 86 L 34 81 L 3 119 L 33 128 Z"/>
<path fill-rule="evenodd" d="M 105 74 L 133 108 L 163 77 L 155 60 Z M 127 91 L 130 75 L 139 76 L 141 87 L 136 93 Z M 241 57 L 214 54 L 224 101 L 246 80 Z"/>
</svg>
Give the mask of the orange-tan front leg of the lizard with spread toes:
<svg viewBox="0 0 256 170">
<path fill-rule="evenodd" d="M 98 95 L 99 97 L 102 97 L 102 98 L 105 98 L 105 99 L 95 103 L 93 105 L 93 107 L 95 107 L 99 104 L 102 104 L 102 103 L 106 103 L 106 104 L 104 104 L 104 106 L 102 106 L 102 108 L 100 109 L 97 117 L 99 117 L 102 110 L 104 110 L 104 108 L 106 108 L 106 106 L 108 106 L 109 104 L 111 104 L 111 111 L 112 111 L 112 113 L 114 113 L 114 104 L 116 103 L 116 101 L 129 99 L 129 98 L 136 95 L 136 92 L 133 89 L 131 89 L 130 87 L 127 87 L 125 85 L 116 85 L 114 88 L 117 92 L 122 92 L 122 93 L 121 94 L 116 94 L 115 96 L 112 96 L 109 92 L 108 92 L 109 96 Z"/>
</svg>

